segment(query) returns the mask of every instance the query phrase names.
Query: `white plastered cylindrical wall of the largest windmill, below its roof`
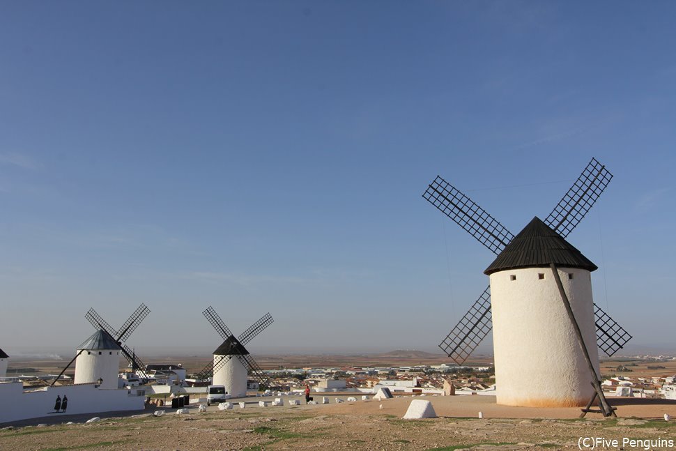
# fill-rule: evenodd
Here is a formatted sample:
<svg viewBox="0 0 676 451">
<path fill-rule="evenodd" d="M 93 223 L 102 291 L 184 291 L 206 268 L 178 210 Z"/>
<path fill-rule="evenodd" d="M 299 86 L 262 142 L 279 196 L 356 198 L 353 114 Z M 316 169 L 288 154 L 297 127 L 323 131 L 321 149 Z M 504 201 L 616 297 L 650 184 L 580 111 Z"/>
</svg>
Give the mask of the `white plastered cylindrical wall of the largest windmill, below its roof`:
<svg viewBox="0 0 676 451">
<path fill-rule="evenodd" d="M 599 372 L 590 272 L 559 268 L 564 290 Z M 569 279 L 568 274 L 573 274 Z M 544 274 L 544 280 L 538 278 Z M 516 280 L 511 280 L 516 276 Z M 497 402 L 509 406 L 584 406 L 594 389 L 550 268 L 491 274 Z"/>
</svg>

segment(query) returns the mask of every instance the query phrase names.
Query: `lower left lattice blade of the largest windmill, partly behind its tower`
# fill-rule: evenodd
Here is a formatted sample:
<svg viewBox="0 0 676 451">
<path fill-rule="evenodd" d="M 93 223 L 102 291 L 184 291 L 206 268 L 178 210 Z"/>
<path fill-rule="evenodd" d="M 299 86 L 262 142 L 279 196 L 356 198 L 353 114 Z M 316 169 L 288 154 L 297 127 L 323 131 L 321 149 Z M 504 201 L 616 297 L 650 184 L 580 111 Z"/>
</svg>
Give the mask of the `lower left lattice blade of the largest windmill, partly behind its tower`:
<svg viewBox="0 0 676 451">
<path fill-rule="evenodd" d="M 491 332 L 491 287 L 479 296 L 439 347 L 458 365 L 462 365 Z"/>
</svg>

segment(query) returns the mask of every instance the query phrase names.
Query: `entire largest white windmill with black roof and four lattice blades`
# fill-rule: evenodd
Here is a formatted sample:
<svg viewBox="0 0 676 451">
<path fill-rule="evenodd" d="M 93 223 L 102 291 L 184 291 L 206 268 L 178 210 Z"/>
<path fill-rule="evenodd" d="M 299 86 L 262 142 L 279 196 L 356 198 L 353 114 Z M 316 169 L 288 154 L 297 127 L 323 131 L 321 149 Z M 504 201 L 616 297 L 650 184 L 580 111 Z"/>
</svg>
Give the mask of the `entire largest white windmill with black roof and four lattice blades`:
<svg viewBox="0 0 676 451">
<path fill-rule="evenodd" d="M 592 158 L 546 220 L 536 217 L 516 237 L 440 176 L 424 192 L 498 254 L 485 271 L 489 288 L 439 345 L 461 365 L 493 328 L 498 404 L 583 406 L 591 398 L 588 410 L 598 394 L 604 414 L 612 414 L 599 393 L 594 330 L 608 356 L 631 335 L 594 304 L 590 272 L 597 267 L 565 240 L 611 178 Z"/>
</svg>

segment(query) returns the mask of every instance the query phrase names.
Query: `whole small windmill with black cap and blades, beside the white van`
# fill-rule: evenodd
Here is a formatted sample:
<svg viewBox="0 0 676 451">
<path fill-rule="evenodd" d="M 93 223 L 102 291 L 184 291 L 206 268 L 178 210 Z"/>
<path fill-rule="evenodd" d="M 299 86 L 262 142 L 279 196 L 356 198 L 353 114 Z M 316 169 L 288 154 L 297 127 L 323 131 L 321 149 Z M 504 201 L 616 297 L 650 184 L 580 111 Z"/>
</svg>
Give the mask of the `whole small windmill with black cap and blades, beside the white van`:
<svg viewBox="0 0 676 451">
<path fill-rule="evenodd" d="M 269 313 L 263 315 L 236 338 L 213 307 L 209 306 L 202 314 L 224 341 L 213 351 L 213 361 L 199 372 L 199 379 L 213 375 L 213 385 L 224 385 L 229 395 L 235 398 L 247 395 L 249 373 L 259 380 L 261 386 L 268 385 L 268 378 L 244 345 L 275 321 L 272 316 Z"/>
</svg>

